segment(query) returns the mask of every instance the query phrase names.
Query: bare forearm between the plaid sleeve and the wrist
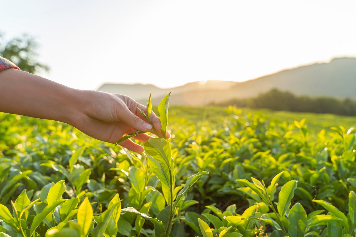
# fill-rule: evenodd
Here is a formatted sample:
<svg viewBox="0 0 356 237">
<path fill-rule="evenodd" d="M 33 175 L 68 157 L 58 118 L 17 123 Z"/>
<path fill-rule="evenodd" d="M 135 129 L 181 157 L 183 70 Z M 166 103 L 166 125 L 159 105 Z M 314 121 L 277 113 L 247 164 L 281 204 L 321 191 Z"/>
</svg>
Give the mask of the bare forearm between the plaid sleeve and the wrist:
<svg viewBox="0 0 356 237">
<path fill-rule="evenodd" d="M 0 111 L 71 124 L 79 90 L 16 69 L 0 72 Z"/>
</svg>

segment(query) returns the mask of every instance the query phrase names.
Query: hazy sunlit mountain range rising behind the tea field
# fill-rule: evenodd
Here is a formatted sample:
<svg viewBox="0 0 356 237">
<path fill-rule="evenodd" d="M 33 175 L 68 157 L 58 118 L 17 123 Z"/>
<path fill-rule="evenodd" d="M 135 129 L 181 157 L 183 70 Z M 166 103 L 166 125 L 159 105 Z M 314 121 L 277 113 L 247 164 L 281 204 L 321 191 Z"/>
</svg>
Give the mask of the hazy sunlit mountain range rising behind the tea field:
<svg viewBox="0 0 356 237">
<path fill-rule="evenodd" d="M 356 99 L 356 58 L 334 58 L 329 63 L 303 65 L 244 82 L 193 82 L 169 89 L 142 84 L 104 84 L 98 90 L 125 94 L 143 104 L 147 103 L 150 93 L 152 104 L 158 104 L 164 95 L 172 91 L 171 105 L 205 105 L 257 96 L 272 88 L 295 95 Z"/>
</svg>

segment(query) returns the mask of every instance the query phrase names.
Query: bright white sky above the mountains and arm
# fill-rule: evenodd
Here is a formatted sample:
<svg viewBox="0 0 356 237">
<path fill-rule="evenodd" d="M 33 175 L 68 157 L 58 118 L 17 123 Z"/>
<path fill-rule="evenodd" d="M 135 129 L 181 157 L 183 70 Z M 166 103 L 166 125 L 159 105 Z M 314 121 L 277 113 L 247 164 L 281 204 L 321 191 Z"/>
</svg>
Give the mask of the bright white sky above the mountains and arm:
<svg viewBox="0 0 356 237">
<path fill-rule="evenodd" d="M 77 89 L 244 81 L 356 57 L 355 0 L 1 0 L 0 31 L 34 36 L 41 76 Z"/>
</svg>

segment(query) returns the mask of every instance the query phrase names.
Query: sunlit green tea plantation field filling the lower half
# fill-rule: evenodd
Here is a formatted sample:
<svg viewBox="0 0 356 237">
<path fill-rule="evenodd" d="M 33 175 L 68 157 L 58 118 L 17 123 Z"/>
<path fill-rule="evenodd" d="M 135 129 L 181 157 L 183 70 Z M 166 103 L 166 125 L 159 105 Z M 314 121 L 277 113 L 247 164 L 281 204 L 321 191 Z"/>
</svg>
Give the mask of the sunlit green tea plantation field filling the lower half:
<svg viewBox="0 0 356 237">
<path fill-rule="evenodd" d="M 172 106 L 168 121 L 171 148 L 147 155 L 0 113 L 0 237 L 355 237 L 356 117 Z"/>
</svg>

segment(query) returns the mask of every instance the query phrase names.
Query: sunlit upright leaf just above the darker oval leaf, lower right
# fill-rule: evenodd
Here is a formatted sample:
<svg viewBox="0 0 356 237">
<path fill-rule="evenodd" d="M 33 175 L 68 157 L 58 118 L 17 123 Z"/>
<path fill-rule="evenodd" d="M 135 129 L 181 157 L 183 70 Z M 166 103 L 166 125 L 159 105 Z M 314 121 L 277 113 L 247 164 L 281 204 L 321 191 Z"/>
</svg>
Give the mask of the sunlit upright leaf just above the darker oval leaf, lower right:
<svg viewBox="0 0 356 237">
<path fill-rule="evenodd" d="M 281 218 L 286 214 L 290 202 L 294 196 L 294 190 L 297 188 L 297 180 L 290 180 L 283 185 L 278 194 L 278 213 Z"/>
</svg>

